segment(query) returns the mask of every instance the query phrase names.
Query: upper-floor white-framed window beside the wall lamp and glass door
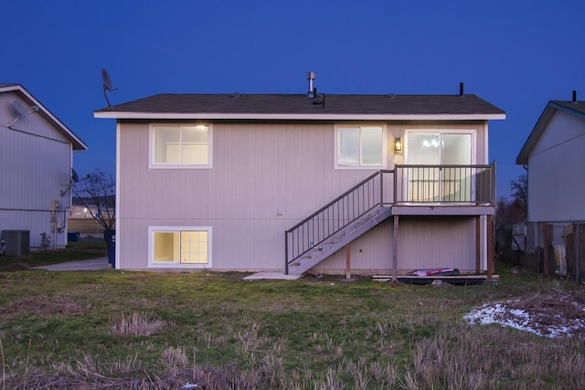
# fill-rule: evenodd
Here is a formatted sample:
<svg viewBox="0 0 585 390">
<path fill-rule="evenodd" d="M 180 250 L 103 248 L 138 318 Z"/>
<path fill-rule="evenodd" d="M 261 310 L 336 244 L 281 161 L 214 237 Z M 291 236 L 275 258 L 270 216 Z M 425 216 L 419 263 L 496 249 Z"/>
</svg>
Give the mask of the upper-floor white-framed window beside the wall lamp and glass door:
<svg viewBox="0 0 585 390">
<path fill-rule="evenodd" d="M 335 126 L 335 168 L 384 168 L 386 155 L 386 125 Z"/>
</svg>

